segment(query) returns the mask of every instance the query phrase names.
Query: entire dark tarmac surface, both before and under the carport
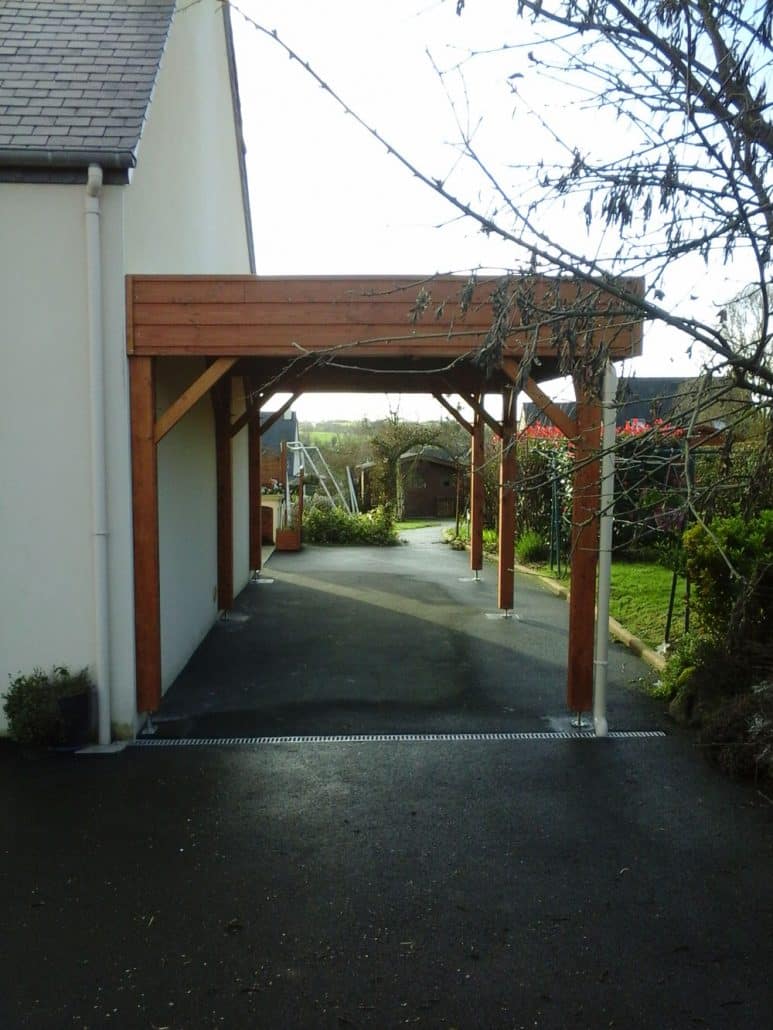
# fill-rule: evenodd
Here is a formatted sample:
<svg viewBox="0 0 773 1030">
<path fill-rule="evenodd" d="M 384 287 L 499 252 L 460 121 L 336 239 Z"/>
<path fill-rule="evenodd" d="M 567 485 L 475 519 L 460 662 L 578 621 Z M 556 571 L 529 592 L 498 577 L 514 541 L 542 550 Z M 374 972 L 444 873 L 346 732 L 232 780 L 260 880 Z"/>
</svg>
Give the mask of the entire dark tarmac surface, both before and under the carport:
<svg viewBox="0 0 773 1030">
<path fill-rule="evenodd" d="M 563 735 L 566 604 L 411 540 L 274 554 L 144 743 L 0 746 L 3 1030 L 771 1026 L 770 798 L 617 646 L 665 735 Z"/>
</svg>

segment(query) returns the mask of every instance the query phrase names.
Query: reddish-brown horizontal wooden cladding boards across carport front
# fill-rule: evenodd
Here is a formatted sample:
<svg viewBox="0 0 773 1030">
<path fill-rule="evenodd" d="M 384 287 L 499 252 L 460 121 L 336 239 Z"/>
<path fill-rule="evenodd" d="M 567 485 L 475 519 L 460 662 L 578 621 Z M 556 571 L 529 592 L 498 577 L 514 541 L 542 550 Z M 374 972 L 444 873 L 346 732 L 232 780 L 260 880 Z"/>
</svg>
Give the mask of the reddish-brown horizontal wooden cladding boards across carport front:
<svg viewBox="0 0 773 1030">
<path fill-rule="evenodd" d="M 480 279 L 463 307 L 467 279 L 256 276 L 131 276 L 127 297 L 130 354 L 298 357 L 340 348 L 370 357 L 459 357 L 484 343 L 502 282 Z M 640 279 L 620 280 L 640 296 Z M 570 279 L 512 279 L 507 352 L 527 334 L 538 353 L 554 350 L 558 322 L 603 341 L 614 357 L 641 352 L 640 315 L 593 284 Z"/>
</svg>

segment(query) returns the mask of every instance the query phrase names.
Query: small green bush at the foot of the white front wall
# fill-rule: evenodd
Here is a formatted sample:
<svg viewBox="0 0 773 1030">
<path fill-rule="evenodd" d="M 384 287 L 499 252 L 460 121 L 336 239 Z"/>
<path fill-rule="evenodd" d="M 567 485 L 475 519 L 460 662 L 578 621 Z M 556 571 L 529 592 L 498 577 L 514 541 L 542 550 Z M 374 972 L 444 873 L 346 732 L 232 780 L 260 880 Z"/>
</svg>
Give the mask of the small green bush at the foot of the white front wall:
<svg viewBox="0 0 773 1030">
<path fill-rule="evenodd" d="M 59 701 L 64 697 L 92 690 L 87 670 L 70 673 L 65 665 L 55 665 L 51 673 L 33 668 L 11 678 L 3 702 L 10 734 L 19 744 L 61 744 L 66 725 Z"/>
</svg>

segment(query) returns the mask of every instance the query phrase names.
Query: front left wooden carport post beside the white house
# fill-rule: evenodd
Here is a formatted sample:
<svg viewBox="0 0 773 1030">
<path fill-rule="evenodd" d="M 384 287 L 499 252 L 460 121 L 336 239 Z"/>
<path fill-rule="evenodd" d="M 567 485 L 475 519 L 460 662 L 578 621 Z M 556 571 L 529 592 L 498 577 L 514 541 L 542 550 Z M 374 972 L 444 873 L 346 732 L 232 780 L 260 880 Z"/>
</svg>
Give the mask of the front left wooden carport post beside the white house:
<svg viewBox="0 0 773 1030">
<path fill-rule="evenodd" d="M 137 712 L 155 712 L 161 703 L 161 579 L 158 459 L 154 439 L 155 373 L 153 357 L 129 358 Z"/>
</svg>

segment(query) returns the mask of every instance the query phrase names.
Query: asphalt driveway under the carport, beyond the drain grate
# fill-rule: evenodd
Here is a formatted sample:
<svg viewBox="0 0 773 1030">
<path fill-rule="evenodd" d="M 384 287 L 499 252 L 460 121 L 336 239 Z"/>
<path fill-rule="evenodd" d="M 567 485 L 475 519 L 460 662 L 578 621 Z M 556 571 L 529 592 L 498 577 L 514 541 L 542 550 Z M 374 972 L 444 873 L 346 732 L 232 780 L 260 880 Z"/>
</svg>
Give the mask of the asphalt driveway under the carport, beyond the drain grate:
<svg viewBox="0 0 773 1030">
<path fill-rule="evenodd" d="M 471 580 L 438 526 L 398 548 L 274 552 L 165 695 L 163 736 L 545 731 L 569 727 L 568 606 L 518 576 L 514 617 L 496 571 Z M 610 726 L 662 728 L 610 649 Z"/>
</svg>

